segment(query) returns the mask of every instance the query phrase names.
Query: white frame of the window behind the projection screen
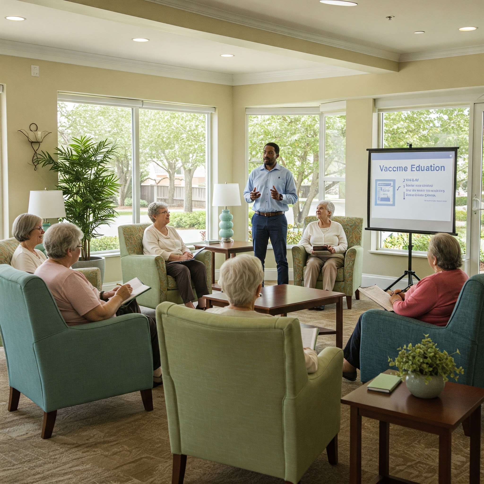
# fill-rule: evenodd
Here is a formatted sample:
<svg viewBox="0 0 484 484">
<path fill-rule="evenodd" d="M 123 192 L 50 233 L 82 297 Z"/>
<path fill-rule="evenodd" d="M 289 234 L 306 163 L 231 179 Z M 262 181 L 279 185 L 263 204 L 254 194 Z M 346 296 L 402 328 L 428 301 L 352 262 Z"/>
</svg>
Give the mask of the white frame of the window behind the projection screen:
<svg viewBox="0 0 484 484">
<path fill-rule="evenodd" d="M 379 102 L 378 102 L 379 101 Z M 410 100 L 413 103 L 418 103 L 419 99 Z M 426 99 L 423 104 L 411 104 L 406 105 L 405 102 L 402 105 L 398 104 L 398 101 L 391 101 L 382 99 L 377 100 L 376 107 L 377 107 L 377 119 L 378 119 L 378 148 L 384 148 L 383 146 L 383 134 L 384 134 L 384 114 L 389 112 L 402 112 L 402 111 L 423 111 L 428 109 L 452 109 L 452 108 L 469 108 L 469 153 L 468 153 L 468 177 L 469 177 L 469 170 L 472 166 L 472 154 L 471 154 L 471 137 L 472 137 L 472 126 L 473 126 L 473 119 L 472 119 L 472 106 L 473 102 L 469 101 L 455 101 L 455 100 L 448 100 L 442 101 L 439 103 L 428 103 L 429 99 Z M 392 106 L 393 105 L 393 106 Z M 468 193 L 468 205 L 469 205 L 469 193 Z M 406 232 L 397 232 L 397 233 L 406 233 Z M 413 232 L 412 232 L 413 233 Z M 387 247 L 381 246 L 381 231 L 372 231 L 371 232 L 371 250 L 370 253 L 377 253 L 377 254 L 387 254 L 387 255 L 397 255 L 397 256 L 408 256 L 408 250 L 405 249 L 391 249 Z M 466 253 L 462 254 L 463 259 L 468 259 L 468 242 L 470 237 L 470 213 L 467 213 L 467 220 L 466 220 Z M 427 257 L 427 251 L 419 251 L 412 249 L 412 257 Z"/>
</svg>

